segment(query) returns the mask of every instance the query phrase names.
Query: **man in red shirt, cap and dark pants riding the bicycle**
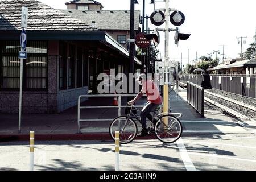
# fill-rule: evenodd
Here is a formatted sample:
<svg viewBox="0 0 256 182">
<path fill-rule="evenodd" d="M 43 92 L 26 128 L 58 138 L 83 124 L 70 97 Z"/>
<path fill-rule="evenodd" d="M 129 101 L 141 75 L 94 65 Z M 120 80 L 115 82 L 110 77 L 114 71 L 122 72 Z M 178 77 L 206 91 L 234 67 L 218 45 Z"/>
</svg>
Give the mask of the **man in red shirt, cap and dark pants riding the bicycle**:
<svg viewBox="0 0 256 182">
<path fill-rule="evenodd" d="M 139 75 L 136 81 L 139 82 L 139 85 L 142 85 L 141 92 L 139 92 L 133 100 L 129 101 L 128 104 L 133 105 L 143 96 L 144 93 L 146 93 L 148 102 L 146 106 L 143 107 L 140 114 L 142 121 L 142 131 L 137 135 L 138 137 L 143 137 L 148 135 L 146 118 L 152 121 L 152 115 L 150 113 L 162 105 L 162 97 L 160 96 L 158 87 L 150 79 L 147 79 L 146 75 Z M 156 124 L 155 120 L 153 122 Z"/>
</svg>

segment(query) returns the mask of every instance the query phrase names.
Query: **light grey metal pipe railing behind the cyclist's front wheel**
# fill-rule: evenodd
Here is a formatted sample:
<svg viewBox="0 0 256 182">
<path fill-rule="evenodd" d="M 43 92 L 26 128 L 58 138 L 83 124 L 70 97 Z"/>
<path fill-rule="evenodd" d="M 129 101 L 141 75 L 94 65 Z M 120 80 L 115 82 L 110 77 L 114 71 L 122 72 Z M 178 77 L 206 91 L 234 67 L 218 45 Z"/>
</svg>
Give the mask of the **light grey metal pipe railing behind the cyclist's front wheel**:
<svg viewBox="0 0 256 182">
<path fill-rule="evenodd" d="M 102 95 L 84 95 L 79 96 L 78 106 L 77 106 L 77 133 L 80 133 L 80 122 L 89 122 L 89 121 L 112 121 L 114 118 L 104 118 L 104 119 L 81 119 L 81 109 L 118 109 L 118 117 L 121 116 L 121 109 L 131 106 L 121 105 L 122 97 L 135 97 L 137 94 L 102 94 Z M 118 97 L 118 106 L 81 106 L 81 98 L 89 97 Z M 138 108 L 143 108 L 144 105 L 136 105 Z"/>
</svg>

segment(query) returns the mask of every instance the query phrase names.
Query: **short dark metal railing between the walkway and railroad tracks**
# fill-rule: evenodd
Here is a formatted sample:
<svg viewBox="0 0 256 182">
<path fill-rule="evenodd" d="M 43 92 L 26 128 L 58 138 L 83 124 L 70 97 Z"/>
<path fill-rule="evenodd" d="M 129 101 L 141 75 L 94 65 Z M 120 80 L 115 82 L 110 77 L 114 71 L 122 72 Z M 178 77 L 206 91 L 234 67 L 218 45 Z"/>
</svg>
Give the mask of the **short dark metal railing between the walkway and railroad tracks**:
<svg viewBox="0 0 256 182">
<path fill-rule="evenodd" d="M 204 118 L 204 88 L 187 82 L 187 102 Z"/>
</svg>

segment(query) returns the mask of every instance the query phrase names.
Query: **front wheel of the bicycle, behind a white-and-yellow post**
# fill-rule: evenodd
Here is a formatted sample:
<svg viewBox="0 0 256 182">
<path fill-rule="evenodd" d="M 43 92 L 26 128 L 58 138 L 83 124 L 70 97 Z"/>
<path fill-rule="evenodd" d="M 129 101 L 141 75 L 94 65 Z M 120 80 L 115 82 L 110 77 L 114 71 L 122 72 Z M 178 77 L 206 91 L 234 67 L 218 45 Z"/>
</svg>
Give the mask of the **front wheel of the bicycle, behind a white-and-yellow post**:
<svg viewBox="0 0 256 182">
<path fill-rule="evenodd" d="M 138 129 L 133 119 L 121 116 L 115 118 L 109 126 L 109 134 L 113 140 L 115 140 L 115 131 L 119 131 L 120 143 L 127 144 L 134 140 Z"/>
</svg>

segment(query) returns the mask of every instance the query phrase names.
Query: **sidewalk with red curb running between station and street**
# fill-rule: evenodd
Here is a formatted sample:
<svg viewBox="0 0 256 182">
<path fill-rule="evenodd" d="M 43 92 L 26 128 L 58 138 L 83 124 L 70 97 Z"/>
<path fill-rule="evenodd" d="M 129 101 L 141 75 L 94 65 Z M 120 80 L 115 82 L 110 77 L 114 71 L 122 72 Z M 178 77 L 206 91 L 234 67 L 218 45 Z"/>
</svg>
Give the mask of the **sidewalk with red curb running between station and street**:
<svg viewBox="0 0 256 182">
<path fill-rule="evenodd" d="M 244 133 L 246 130 L 237 125 L 224 114 L 212 111 L 205 112 L 204 119 L 186 102 L 186 94 L 180 89 L 179 96 L 170 93 L 172 112 L 183 113 L 181 122 L 185 135 L 191 134 L 224 134 Z M 82 106 L 112 105 L 113 98 L 90 98 Z M 138 105 L 143 105 L 141 100 Z M 122 100 L 126 105 L 127 98 Z M 122 110 L 122 114 L 125 110 Z M 85 109 L 81 110 L 81 119 L 115 118 L 117 109 Z M 110 121 L 81 122 L 81 133 L 77 134 L 77 106 L 60 114 L 23 114 L 22 133 L 18 134 L 18 114 L 0 114 L 0 142 L 8 140 L 27 140 L 29 132 L 35 131 L 37 140 L 109 140 Z M 141 125 L 138 123 L 138 130 Z M 151 138 L 151 137 L 149 137 Z M 144 138 L 143 138 L 144 139 Z"/>
</svg>

